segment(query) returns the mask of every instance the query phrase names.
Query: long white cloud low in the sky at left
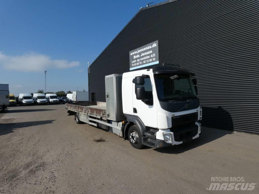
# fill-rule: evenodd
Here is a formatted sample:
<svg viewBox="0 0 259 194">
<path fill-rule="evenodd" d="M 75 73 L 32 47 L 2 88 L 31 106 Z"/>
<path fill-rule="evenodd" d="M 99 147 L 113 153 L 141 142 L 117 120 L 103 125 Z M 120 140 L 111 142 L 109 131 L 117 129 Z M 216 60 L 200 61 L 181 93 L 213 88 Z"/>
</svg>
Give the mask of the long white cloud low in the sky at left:
<svg viewBox="0 0 259 194">
<path fill-rule="evenodd" d="M 66 69 L 79 66 L 78 61 L 53 60 L 51 57 L 38 53 L 8 56 L 0 52 L 0 66 L 8 70 L 42 71 L 47 68 Z"/>
</svg>

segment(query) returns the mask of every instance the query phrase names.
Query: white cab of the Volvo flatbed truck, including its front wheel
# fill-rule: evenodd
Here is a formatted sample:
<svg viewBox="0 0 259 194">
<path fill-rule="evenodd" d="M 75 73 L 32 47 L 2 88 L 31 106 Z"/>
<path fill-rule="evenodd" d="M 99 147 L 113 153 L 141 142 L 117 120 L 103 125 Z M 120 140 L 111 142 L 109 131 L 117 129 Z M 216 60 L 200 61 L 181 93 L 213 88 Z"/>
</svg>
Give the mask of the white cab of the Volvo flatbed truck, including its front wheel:
<svg viewBox="0 0 259 194">
<path fill-rule="evenodd" d="M 135 148 L 187 143 L 201 133 L 202 108 L 194 73 L 179 66 L 157 66 L 123 73 L 125 136 Z"/>
</svg>

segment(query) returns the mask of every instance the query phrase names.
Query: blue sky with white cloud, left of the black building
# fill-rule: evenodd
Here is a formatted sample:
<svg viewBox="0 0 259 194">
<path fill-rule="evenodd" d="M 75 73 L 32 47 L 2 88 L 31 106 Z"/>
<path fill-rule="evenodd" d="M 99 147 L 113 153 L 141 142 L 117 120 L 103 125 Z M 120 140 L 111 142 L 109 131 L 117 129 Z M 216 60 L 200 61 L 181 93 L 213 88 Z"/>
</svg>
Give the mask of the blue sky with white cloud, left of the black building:
<svg viewBox="0 0 259 194">
<path fill-rule="evenodd" d="M 87 62 L 150 2 L 0 0 L 0 83 L 36 92 L 46 69 L 47 91 L 87 91 Z"/>
</svg>

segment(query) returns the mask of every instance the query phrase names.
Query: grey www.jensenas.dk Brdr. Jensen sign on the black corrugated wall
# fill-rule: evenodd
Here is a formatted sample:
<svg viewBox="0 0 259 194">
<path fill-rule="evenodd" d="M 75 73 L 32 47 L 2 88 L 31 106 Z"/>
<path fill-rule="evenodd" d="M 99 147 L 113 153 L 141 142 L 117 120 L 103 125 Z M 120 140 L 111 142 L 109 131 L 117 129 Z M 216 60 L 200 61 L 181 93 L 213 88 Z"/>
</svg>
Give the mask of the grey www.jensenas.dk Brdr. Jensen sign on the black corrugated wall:
<svg viewBox="0 0 259 194">
<path fill-rule="evenodd" d="M 130 51 L 130 70 L 158 63 L 158 40 Z"/>
</svg>

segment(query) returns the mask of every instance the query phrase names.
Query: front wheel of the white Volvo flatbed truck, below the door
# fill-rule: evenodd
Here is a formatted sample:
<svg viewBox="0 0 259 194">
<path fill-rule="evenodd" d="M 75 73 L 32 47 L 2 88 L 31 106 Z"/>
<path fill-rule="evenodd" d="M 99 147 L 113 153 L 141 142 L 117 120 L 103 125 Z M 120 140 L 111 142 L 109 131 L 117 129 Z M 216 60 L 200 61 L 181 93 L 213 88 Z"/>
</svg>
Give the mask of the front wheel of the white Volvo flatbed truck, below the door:
<svg viewBox="0 0 259 194">
<path fill-rule="evenodd" d="M 136 125 L 132 125 L 128 130 L 128 139 L 132 147 L 140 149 L 145 145 L 142 145 L 142 135 L 139 128 Z"/>
</svg>

